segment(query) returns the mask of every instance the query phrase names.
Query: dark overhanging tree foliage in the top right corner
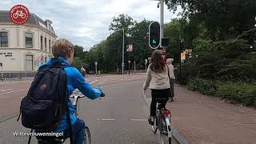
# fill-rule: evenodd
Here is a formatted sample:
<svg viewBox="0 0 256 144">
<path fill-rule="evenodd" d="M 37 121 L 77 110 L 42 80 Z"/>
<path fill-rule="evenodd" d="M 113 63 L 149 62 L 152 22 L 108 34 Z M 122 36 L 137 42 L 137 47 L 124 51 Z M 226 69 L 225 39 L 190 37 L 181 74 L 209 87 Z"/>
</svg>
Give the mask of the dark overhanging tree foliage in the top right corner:
<svg viewBox="0 0 256 144">
<path fill-rule="evenodd" d="M 245 30 L 254 28 L 256 2 L 253 0 L 166 0 L 170 10 L 182 6 L 183 18 L 193 25 L 204 23 L 210 38 L 236 38 Z"/>
</svg>

